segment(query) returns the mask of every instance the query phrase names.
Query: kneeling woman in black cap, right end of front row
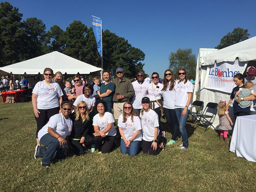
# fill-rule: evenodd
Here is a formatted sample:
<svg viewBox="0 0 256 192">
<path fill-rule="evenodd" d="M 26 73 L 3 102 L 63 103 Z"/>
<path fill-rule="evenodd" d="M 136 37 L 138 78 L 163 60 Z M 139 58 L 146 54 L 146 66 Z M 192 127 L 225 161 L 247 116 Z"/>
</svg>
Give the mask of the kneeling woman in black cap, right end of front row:
<svg viewBox="0 0 256 192">
<path fill-rule="evenodd" d="M 157 155 L 164 149 L 164 143 L 160 142 L 158 116 L 150 109 L 150 100 L 143 97 L 141 100 L 142 109 L 140 111 L 142 125 L 142 152 L 149 155 Z"/>
</svg>

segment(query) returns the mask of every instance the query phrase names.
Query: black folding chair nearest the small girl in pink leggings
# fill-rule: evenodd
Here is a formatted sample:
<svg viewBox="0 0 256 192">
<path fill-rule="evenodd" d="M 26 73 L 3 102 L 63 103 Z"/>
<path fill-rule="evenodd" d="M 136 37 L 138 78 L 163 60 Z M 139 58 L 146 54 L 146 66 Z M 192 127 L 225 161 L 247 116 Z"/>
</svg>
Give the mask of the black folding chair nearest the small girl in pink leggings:
<svg viewBox="0 0 256 192">
<path fill-rule="evenodd" d="M 213 110 L 214 110 L 214 112 L 212 113 Z M 216 113 L 217 110 L 218 110 L 218 103 L 212 103 L 212 102 L 207 103 L 203 114 L 202 115 L 201 114 L 196 115 L 196 117 L 198 117 L 198 120 L 196 118 L 196 121 L 198 121 L 197 124 L 196 124 L 196 127 L 197 127 L 198 123 L 201 121 L 206 126 L 204 132 L 207 130 L 209 124 L 210 124 L 210 127 L 212 126 L 215 129 L 215 127 L 211 124 L 211 120 L 212 120 L 212 117 L 214 117 L 216 115 L 215 113 Z M 206 115 L 207 112 L 212 113 L 212 115 Z M 201 118 L 203 118 L 203 120 L 207 121 L 208 124 L 206 125 L 204 123 L 204 121 L 202 121 Z M 210 121 L 208 121 L 206 118 L 210 118 Z"/>
</svg>

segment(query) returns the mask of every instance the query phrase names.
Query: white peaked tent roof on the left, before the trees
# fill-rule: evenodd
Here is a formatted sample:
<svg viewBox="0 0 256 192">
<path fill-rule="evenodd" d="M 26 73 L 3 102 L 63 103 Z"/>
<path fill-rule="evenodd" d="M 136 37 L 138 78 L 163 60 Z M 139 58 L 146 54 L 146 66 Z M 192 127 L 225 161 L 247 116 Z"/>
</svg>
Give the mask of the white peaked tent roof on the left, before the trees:
<svg viewBox="0 0 256 192">
<path fill-rule="evenodd" d="M 38 73 L 43 74 L 45 68 L 51 68 L 54 73 L 60 71 L 62 74 L 90 74 L 95 71 L 101 71 L 101 68 L 94 67 L 57 51 L 1 67 L 0 70 L 8 73 L 12 72 L 12 74 L 37 75 Z"/>
</svg>

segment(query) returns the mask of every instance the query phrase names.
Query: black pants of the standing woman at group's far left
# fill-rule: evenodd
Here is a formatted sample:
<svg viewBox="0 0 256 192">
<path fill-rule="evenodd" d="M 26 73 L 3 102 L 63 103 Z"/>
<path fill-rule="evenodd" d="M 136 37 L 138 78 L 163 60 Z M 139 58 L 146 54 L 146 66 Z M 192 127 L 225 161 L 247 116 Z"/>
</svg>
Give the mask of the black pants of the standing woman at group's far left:
<svg viewBox="0 0 256 192">
<path fill-rule="evenodd" d="M 38 138 L 38 132 L 49 121 L 50 117 L 59 113 L 60 107 L 55 107 L 52 109 L 38 109 L 38 111 L 40 112 L 38 113 L 39 117 L 37 118 L 35 116 L 37 123 L 36 138 Z"/>
</svg>

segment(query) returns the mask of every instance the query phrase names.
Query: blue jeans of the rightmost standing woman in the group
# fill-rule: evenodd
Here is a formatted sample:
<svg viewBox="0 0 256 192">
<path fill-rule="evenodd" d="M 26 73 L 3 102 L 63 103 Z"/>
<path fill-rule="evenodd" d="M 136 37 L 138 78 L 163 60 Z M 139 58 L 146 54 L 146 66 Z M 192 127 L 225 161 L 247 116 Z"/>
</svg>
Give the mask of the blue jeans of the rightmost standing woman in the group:
<svg viewBox="0 0 256 192">
<path fill-rule="evenodd" d="M 182 111 L 184 108 L 177 108 L 175 109 L 176 115 L 177 115 L 177 119 L 179 121 L 180 124 L 180 134 L 182 137 L 182 142 L 183 142 L 183 147 L 188 148 L 188 133 L 186 130 L 186 124 L 187 124 L 187 120 L 188 120 L 188 115 L 189 115 L 189 109 L 187 109 L 187 114 L 186 116 L 182 116 Z"/>
</svg>

